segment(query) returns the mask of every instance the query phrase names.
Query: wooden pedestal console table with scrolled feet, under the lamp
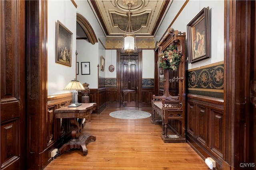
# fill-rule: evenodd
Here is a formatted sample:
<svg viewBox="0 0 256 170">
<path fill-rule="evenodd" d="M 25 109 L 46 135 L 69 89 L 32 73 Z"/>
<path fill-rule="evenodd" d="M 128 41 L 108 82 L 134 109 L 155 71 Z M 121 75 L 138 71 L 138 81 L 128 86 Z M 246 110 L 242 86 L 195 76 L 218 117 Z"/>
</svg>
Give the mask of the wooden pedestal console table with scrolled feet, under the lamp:
<svg viewBox="0 0 256 170">
<path fill-rule="evenodd" d="M 78 107 L 65 106 L 54 110 L 56 118 L 70 118 L 70 124 L 74 126 L 71 133 L 72 139 L 58 149 L 60 154 L 70 149 L 80 149 L 84 155 L 87 154 L 86 144 L 90 140 L 95 141 L 96 137 L 81 134 L 84 128 L 83 119 L 87 118 L 95 109 L 96 103 L 82 103 L 82 105 Z"/>
</svg>

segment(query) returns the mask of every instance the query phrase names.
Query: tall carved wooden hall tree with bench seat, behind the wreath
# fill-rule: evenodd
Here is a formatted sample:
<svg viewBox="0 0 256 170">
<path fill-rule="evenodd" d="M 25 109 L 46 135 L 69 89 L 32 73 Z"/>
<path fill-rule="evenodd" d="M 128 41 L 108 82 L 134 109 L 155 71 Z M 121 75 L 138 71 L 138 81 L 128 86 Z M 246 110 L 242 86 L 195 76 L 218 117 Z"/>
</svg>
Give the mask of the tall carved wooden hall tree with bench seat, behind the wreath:
<svg viewBox="0 0 256 170">
<path fill-rule="evenodd" d="M 186 33 L 181 33 L 173 28 L 162 38 L 158 45 L 158 54 L 166 51 L 171 45 L 177 46 L 180 63 L 177 70 L 158 68 L 158 90 L 162 96 L 154 96 L 152 100 L 152 123 L 162 123 L 162 140 L 168 142 L 185 142 L 185 108 L 186 108 L 186 79 L 185 79 L 185 41 Z M 159 59 L 159 57 L 158 57 Z M 158 61 L 159 65 L 159 61 Z M 157 119 L 158 113 L 161 120 Z M 169 131 L 172 130 L 173 133 Z"/>
</svg>

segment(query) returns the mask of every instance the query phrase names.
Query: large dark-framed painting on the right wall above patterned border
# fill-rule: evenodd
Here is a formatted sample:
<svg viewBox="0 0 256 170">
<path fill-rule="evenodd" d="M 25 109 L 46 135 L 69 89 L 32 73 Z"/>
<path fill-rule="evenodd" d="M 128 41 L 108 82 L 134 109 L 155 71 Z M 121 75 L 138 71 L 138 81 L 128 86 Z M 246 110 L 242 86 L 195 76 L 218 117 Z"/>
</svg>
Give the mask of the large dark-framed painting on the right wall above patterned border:
<svg viewBox="0 0 256 170">
<path fill-rule="evenodd" d="M 209 7 L 202 9 L 187 25 L 189 63 L 211 57 Z"/>
</svg>

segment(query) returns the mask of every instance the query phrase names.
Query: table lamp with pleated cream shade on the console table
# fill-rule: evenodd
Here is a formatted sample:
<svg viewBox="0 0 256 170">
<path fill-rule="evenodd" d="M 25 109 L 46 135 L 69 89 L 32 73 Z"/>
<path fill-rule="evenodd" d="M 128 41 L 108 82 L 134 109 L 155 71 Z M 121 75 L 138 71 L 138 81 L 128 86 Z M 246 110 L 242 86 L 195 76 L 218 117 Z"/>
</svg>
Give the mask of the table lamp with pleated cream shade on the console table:
<svg viewBox="0 0 256 170">
<path fill-rule="evenodd" d="M 73 90 L 72 92 L 72 104 L 68 107 L 77 107 L 82 104 L 78 103 L 78 91 L 77 90 L 85 90 L 82 84 L 76 79 L 71 80 L 68 85 L 63 90 Z"/>
</svg>

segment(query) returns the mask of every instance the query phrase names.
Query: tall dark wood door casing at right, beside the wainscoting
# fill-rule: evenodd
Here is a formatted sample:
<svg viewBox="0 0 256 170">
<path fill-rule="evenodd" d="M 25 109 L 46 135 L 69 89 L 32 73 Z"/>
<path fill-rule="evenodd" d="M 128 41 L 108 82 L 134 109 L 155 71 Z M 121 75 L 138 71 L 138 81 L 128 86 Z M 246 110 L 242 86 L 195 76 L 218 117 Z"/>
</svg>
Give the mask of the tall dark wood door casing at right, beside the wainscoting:
<svg viewBox="0 0 256 170">
<path fill-rule="evenodd" d="M 250 59 L 254 57 L 255 2 L 224 1 L 225 167 L 250 163 Z M 254 14 L 254 16 L 252 16 Z M 252 25 L 251 25 L 252 23 Z M 239 68 L 239 69 L 238 69 Z"/>
</svg>

